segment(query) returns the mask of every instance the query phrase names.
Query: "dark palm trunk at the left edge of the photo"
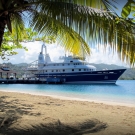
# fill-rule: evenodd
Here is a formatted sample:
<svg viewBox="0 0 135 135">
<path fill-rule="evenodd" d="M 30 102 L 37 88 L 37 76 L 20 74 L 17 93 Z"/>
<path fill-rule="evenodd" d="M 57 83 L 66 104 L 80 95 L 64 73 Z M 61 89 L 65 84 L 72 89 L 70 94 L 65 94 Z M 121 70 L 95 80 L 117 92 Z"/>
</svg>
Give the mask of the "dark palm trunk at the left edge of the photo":
<svg viewBox="0 0 135 135">
<path fill-rule="evenodd" d="M 1 45 L 3 41 L 5 26 L 6 26 L 6 19 L 5 17 L 0 16 L 0 50 L 1 50 Z"/>
</svg>

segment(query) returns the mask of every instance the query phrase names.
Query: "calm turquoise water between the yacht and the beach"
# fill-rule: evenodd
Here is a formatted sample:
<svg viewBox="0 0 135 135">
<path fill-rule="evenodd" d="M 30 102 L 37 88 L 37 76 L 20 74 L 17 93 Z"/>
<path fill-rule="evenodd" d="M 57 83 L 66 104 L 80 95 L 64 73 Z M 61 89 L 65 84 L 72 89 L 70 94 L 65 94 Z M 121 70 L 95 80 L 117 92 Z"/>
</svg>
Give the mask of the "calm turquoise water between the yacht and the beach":
<svg viewBox="0 0 135 135">
<path fill-rule="evenodd" d="M 112 85 L 0 84 L 0 90 L 135 105 L 134 80 L 118 80 L 116 84 Z"/>
</svg>

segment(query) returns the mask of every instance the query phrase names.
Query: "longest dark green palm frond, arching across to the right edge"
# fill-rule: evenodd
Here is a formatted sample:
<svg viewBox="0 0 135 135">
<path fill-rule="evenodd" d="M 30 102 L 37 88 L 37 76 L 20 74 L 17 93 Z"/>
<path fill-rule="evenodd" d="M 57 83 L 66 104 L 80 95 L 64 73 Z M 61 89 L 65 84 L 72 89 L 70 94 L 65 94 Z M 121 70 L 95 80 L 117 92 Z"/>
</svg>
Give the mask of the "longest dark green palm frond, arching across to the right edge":
<svg viewBox="0 0 135 135">
<path fill-rule="evenodd" d="M 102 46 L 106 47 L 107 44 L 109 44 L 112 49 L 118 49 L 119 53 L 123 53 L 122 43 L 130 43 L 130 40 L 134 39 L 134 28 L 132 27 L 134 24 L 131 24 L 129 20 L 118 18 L 115 14 L 111 14 L 110 12 L 72 4 L 71 2 L 66 3 L 61 0 L 57 2 L 47 1 L 40 5 L 38 10 L 48 16 L 48 20 L 50 19 L 49 17 L 51 17 L 55 19 L 55 21 L 59 21 L 63 23 L 63 25 L 76 31 L 90 46 L 92 46 L 92 44 L 100 44 L 101 46 L 102 44 Z M 41 32 L 46 30 L 45 27 L 48 27 L 48 32 L 50 32 L 49 27 L 54 23 L 49 25 L 47 23 L 48 20 L 46 19 L 46 21 L 44 21 L 46 25 L 41 24 L 35 25 L 34 27 L 37 27 Z M 42 18 L 40 18 L 40 21 L 42 21 Z M 124 38 L 125 35 L 127 38 Z M 68 42 L 66 43 L 69 44 Z M 131 52 L 130 50 L 131 49 L 128 49 L 126 51 Z M 127 56 L 129 57 L 129 55 Z M 130 56 L 133 57 L 133 55 Z M 131 59 L 131 57 L 129 59 Z"/>
</svg>

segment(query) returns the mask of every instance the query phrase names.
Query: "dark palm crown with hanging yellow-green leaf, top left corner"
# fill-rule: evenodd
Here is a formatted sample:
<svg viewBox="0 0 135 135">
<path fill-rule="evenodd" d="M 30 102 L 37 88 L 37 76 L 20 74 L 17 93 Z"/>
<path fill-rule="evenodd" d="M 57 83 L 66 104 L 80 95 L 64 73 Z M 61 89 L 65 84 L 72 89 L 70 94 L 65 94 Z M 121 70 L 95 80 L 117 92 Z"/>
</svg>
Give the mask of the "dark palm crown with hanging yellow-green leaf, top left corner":
<svg viewBox="0 0 135 135">
<path fill-rule="evenodd" d="M 16 32 L 16 38 L 19 39 L 24 29 L 23 11 L 31 10 L 25 0 L 0 0 L 0 48 L 2 45 L 3 34 L 8 30 Z"/>
</svg>

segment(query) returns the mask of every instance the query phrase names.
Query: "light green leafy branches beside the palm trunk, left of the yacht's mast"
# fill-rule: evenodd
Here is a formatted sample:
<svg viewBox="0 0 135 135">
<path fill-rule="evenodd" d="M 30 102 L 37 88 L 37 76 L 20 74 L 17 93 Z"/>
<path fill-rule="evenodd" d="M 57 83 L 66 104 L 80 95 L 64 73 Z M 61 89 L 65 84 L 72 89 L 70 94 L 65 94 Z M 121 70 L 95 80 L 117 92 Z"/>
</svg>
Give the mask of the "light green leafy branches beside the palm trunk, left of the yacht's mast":
<svg viewBox="0 0 135 135">
<path fill-rule="evenodd" d="M 2 48 L 0 51 L 0 56 L 3 60 L 8 60 L 6 59 L 6 56 L 16 55 L 16 49 L 24 49 L 25 51 L 28 51 L 28 49 L 22 45 L 22 42 L 31 42 L 34 40 L 44 41 L 46 43 L 55 42 L 55 38 L 52 36 L 37 37 L 37 32 L 34 32 L 31 28 L 25 28 L 22 31 L 20 30 L 19 36 L 16 36 L 17 35 L 14 30 L 12 33 L 8 30 L 5 31 Z"/>
</svg>

